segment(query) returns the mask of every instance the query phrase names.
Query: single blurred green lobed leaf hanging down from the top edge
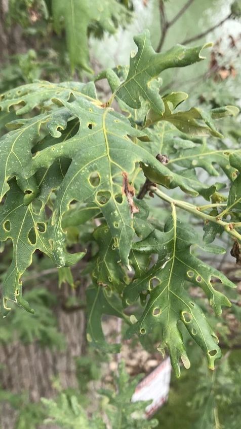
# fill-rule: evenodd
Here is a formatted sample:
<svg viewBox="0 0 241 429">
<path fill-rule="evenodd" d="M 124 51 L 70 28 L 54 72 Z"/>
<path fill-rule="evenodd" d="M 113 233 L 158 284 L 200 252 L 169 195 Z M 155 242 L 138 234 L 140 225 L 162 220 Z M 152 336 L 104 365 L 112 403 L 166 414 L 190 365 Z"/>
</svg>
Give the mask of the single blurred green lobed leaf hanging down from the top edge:
<svg viewBox="0 0 241 429">
<path fill-rule="evenodd" d="M 58 33 L 61 32 L 64 22 L 67 48 L 72 70 L 75 65 L 80 65 L 88 72 L 89 47 L 88 30 L 91 24 L 97 25 L 101 31 L 113 34 L 116 31 L 116 23 L 126 21 L 130 17 L 128 10 L 116 0 L 93 0 L 90 6 L 88 0 L 52 0 L 54 26 Z"/>
</svg>

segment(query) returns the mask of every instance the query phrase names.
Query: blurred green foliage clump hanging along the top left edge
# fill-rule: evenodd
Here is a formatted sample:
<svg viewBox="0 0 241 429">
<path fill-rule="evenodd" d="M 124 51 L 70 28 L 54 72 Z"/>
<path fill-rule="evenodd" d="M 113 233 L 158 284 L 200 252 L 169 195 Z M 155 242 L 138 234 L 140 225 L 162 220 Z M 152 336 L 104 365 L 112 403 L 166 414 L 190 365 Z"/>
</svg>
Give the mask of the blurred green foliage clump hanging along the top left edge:
<svg viewBox="0 0 241 429">
<path fill-rule="evenodd" d="M 72 71 L 74 68 L 93 72 L 89 64 L 88 38 L 103 37 L 104 32 L 114 34 L 118 25 L 124 26 L 131 20 L 132 5 L 126 0 L 10 0 L 8 24 L 18 23 L 28 37 L 42 36 L 45 42 L 46 33 L 55 31 L 58 39 L 64 32 L 66 47 Z M 53 49 L 65 49 L 58 39 Z M 38 44 L 41 45 L 41 42 Z M 45 43 L 42 43 L 43 48 Z M 44 67 L 44 65 L 43 65 Z"/>
</svg>

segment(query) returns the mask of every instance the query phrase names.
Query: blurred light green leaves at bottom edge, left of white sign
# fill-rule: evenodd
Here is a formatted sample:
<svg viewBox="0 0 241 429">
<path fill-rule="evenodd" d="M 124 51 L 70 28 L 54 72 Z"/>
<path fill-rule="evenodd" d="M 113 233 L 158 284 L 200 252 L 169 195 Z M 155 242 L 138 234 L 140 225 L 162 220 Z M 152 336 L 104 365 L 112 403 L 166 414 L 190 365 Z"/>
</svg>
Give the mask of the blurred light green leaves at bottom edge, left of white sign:
<svg viewBox="0 0 241 429">
<path fill-rule="evenodd" d="M 148 402 L 139 401 L 131 402 L 132 395 L 135 391 L 137 380 L 140 377 L 130 377 L 126 373 L 124 362 L 118 367 L 118 377 L 115 377 L 116 387 L 113 389 L 101 389 L 99 393 L 105 397 L 103 412 L 93 413 L 90 419 L 85 409 L 78 403 L 75 396 L 70 398 L 62 393 L 60 397 L 55 400 L 42 399 L 42 402 L 47 407 L 47 413 L 50 416 L 45 420 L 46 423 L 57 423 L 60 427 L 66 428 L 79 428 L 86 427 L 95 429 L 107 428 L 111 424 L 114 427 L 116 424 L 119 429 L 150 429 L 155 427 L 157 421 L 152 419 L 146 421 L 143 418 L 143 405 Z M 105 417 L 103 417 L 103 414 Z"/>
</svg>

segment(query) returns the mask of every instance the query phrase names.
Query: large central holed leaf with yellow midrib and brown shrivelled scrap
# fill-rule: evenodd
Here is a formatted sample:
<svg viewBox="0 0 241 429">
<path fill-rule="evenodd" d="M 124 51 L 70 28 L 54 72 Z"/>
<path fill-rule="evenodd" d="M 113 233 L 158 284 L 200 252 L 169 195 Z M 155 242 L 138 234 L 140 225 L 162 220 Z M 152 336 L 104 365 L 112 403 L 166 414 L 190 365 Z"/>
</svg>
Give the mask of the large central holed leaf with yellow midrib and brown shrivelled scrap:
<svg viewBox="0 0 241 429">
<path fill-rule="evenodd" d="M 48 168 L 56 159 L 72 158 L 71 165 L 57 194 L 51 240 L 58 266 L 64 266 L 64 233 L 62 217 L 68 211 L 71 201 L 95 203 L 103 213 L 120 259 L 128 266 L 128 255 L 134 236 L 133 213 L 138 208 L 133 203 L 134 189 L 128 177 L 134 172 L 135 164 L 141 162 L 145 175 L 155 175 L 155 182 L 167 187 L 180 186 L 183 190 L 196 194 L 195 185 L 188 178 L 182 178 L 170 170 L 146 150 L 134 144 L 128 136 L 142 133 L 130 125 L 124 115 L 96 106 L 85 97 L 62 104 L 71 117 L 79 118 L 79 130 L 74 137 L 39 151 L 33 158 L 32 166 L 26 171 L 30 177 L 39 168 Z M 54 112 L 52 120 L 56 127 L 60 113 Z"/>
</svg>

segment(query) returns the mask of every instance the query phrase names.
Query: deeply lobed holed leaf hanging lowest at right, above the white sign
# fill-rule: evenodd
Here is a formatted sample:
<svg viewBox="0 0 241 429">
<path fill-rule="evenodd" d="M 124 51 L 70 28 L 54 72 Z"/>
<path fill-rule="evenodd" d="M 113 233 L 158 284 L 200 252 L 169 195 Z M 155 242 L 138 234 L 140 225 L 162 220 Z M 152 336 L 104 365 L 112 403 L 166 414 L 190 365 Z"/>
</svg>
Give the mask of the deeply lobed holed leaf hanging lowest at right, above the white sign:
<svg viewBox="0 0 241 429">
<path fill-rule="evenodd" d="M 218 278 L 230 287 L 230 282 L 222 273 L 208 266 L 190 252 L 190 246 L 197 243 L 197 236 L 190 228 L 176 218 L 173 206 L 172 219 L 165 226 L 165 232 L 155 230 L 145 240 L 133 245 L 136 251 L 157 253 L 158 260 L 142 277 L 135 278 L 124 291 L 124 303 L 130 304 L 137 300 L 143 290 L 150 294 L 143 315 L 129 329 L 129 335 L 134 332 L 139 335 L 147 334 L 157 325 L 162 328 L 163 340 L 159 350 L 168 348 L 173 368 L 180 375 L 179 359 L 189 367 L 181 331 L 178 323 L 186 326 L 189 334 L 200 348 L 206 353 L 209 367 L 214 368 L 214 361 L 220 357 L 217 337 L 209 326 L 205 315 L 186 291 L 185 283 L 203 288 L 209 298 L 210 305 L 216 314 L 221 314 L 221 306 L 230 306 L 228 299 L 214 289 L 211 279 Z M 153 287 L 153 281 L 157 285 Z"/>
</svg>

